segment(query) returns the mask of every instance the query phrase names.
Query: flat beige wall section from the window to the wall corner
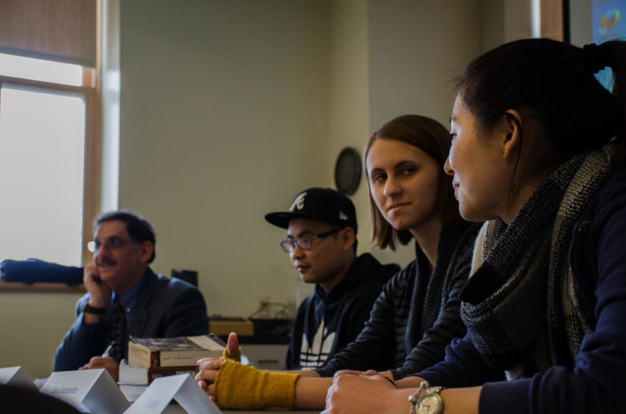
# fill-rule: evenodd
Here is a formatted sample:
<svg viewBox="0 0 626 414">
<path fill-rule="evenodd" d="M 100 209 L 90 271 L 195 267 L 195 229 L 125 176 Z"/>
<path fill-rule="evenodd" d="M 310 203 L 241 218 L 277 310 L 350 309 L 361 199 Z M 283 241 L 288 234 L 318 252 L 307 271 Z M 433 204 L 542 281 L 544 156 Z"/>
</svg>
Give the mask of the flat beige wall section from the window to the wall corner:
<svg viewBox="0 0 626 414">
<path fill-rule="evenodd" d="M 199 272 L 209 313 L 295 302 L 263 216 L 330 185 L 328 6 L 181 4 L 121 4 L 120 206 L 157 227 L 154 270 Z"/>
</svg>

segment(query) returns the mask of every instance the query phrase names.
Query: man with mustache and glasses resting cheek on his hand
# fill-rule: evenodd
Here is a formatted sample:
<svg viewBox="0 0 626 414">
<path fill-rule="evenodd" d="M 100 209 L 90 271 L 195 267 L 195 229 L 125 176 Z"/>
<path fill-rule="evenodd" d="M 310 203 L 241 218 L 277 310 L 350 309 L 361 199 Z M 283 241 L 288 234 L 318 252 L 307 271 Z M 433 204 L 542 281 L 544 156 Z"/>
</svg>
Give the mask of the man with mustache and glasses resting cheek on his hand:
<svg viewBox="0 0 626 414">
<path fill-rule="evenodd" d="M 88 293 L 77 302 L 77 319 L 56 349 L 54 371 L 106 368 L 117 379 L 129 335 L 171 338 L 209 332 L 200 291 L 150 269 L 154 234 L 147 220 L 129 210 L 94 221 L 94 260 L 83 274 Z"/>
</svg>

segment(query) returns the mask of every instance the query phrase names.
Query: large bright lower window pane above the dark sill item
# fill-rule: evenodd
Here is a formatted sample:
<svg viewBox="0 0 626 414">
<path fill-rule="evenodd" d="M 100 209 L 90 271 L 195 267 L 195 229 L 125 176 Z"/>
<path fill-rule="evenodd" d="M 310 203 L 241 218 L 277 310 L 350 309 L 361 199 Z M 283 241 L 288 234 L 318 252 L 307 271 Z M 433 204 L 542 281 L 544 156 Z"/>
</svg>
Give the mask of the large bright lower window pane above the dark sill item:
<svg viewBox="0 0 626 414">
<path fill-rule="evenodd" d="M 80 265 L 85 102 L 0 90 L 0 260 Z"/>
</svg>

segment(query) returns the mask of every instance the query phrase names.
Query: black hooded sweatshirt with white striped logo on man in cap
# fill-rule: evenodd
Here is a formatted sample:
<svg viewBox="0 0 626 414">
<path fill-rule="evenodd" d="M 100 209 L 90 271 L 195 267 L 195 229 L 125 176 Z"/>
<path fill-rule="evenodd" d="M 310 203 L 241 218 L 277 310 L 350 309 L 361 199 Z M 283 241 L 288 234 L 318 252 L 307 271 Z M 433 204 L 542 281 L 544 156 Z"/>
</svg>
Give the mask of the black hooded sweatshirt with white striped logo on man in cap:
<svg viewBox="0 0 626 414">
<path fill-rule="evenodd" d="M 328 292 L 315 285 L 315 291 L 298 306 L 285 369 L 321 367 L 352 342 L 390 276 L 374 256 L 362 254 Z"/>
</svg>

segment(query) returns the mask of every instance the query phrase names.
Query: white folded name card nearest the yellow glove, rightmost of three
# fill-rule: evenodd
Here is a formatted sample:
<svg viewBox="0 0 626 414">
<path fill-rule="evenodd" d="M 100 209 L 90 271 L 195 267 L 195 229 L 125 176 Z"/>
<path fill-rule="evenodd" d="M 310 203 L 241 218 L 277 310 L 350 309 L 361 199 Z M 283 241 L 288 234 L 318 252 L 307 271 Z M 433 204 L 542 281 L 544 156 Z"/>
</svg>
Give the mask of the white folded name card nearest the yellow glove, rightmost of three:
<svg viewBox="0 0 626 414">
<path fill-rule="evenodd" d="M 175 399 L 188 414 L 220 414 L 190 374 L 157 378 L 124 414 L 160 414 Z"/>
</svg>

